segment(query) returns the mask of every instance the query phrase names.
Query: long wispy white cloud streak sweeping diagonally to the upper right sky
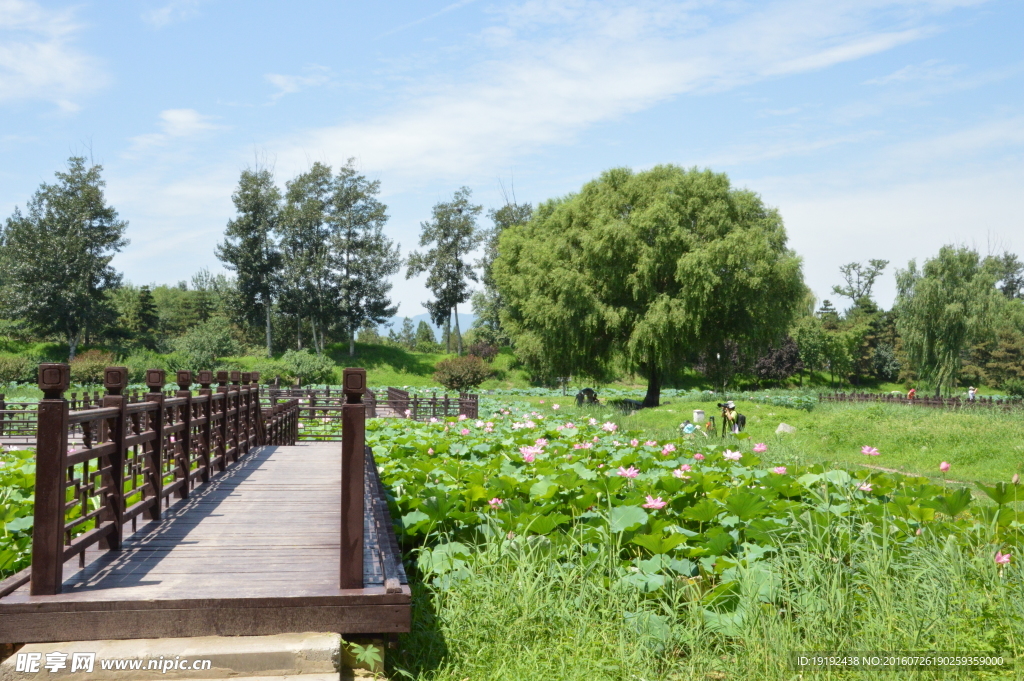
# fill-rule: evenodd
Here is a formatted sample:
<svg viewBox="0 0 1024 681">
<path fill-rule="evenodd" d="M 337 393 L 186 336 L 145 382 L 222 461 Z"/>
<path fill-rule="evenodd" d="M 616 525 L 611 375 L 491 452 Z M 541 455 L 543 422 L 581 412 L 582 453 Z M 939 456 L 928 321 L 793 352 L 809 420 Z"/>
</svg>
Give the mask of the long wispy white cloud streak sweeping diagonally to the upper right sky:
<svg viewBox="0 0 1024 681">
<path fill-rule="evenodd" d="M 893 49 L 931 35 L 930 12 L 953 4 L 527 2 L 483 32 L 484 52 L 461 77 L 390 113 L 310 130 L 274 151 L 286 168 L 323 153 L 357 156 L 392 177 L 465 177 L 683 93 Z M 899 10 L 910 17 L 886 18 Z"/>
</svg>

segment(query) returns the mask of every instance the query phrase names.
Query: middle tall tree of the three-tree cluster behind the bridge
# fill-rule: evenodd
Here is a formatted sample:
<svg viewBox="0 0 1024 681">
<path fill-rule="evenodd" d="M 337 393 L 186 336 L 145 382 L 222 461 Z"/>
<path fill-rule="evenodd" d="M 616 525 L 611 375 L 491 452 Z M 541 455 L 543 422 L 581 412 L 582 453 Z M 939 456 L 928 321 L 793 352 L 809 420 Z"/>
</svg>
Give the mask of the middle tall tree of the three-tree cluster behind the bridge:
<svg viewBox="0 0 1024 681">
<path fill-rule="evenodd" d="M 310 323 L 313 347 L 324 349 L 324 331 L 332 322 L 338 290 L 332 269 L 332 222 L 335 179 L 329 166 L 314 163 L 286 184 L 281 219 L 284 263 L 281 306 L 296 320 L 302 348 L 302 321 Z M 319 337 L 317 338 L 317 330 Z"/>
</svg>

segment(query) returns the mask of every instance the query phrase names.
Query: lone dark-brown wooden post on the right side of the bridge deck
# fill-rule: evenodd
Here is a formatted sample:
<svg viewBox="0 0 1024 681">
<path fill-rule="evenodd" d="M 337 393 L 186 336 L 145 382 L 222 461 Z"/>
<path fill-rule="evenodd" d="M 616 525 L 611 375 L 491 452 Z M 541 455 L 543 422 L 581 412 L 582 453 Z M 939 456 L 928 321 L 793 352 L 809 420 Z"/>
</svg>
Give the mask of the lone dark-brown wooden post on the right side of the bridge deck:
<svg viewBox="0 0 1024 681">
<path fill-rule="evenodd" d="M 362 495 L 367 443 L 366 369 L 342 373 L 341 408 L 341 571 L 340 588 L 362 588 Z"/>
</svg>

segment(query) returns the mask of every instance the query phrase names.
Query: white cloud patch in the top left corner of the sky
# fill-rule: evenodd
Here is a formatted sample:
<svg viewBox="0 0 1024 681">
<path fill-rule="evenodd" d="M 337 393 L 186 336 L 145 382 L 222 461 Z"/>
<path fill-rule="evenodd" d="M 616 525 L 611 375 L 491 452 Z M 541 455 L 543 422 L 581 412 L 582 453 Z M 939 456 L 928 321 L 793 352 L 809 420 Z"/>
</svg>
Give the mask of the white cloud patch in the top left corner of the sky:
<svg viewBox="0 0 1024 681">
<path fill-rule="evenodd" d="M 74 113 L 77 97 L 103 87 L 98 60 L 72 44 L 80 29 L 71 10 L 0 0 L 0 103 L 43 99 Z"/>
</svg>

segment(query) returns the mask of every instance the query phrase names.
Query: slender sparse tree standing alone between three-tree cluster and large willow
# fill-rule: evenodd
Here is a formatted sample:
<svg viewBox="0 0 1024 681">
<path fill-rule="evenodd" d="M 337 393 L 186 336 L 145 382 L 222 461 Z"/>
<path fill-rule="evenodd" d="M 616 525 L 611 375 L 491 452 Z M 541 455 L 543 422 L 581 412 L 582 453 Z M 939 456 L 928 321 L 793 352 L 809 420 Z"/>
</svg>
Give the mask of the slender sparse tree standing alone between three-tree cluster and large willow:
<svg viewBox="0 0 1024 681">
<path fill-rule="evenodd" d="M 472 191 L 464 186 L 455 193 L 452 201 L 440 202 L 432 209 L 432 218 L 420 223 L 420 246 L 430 249 L 414 252 L 409 256 L 406 278 L 427 272 L 427 288 L 434 299 L 425 303 L 431 321 L 445 330 L 451 329 L 455 314 L 455 335 L 457 351 L 462 354 L 462 334 L 459 332 L 459 303 L 470 297 L 470 282 L 479 278 L 468 260 L 482 240 L 476 226 L 476 218 L 483 210 L 469 202 Z M 452 351 L 451 334 L 447 335 L 446 350 Z"/>
</svg>

